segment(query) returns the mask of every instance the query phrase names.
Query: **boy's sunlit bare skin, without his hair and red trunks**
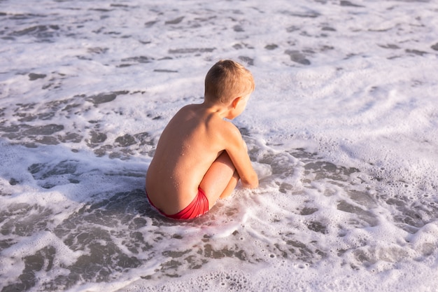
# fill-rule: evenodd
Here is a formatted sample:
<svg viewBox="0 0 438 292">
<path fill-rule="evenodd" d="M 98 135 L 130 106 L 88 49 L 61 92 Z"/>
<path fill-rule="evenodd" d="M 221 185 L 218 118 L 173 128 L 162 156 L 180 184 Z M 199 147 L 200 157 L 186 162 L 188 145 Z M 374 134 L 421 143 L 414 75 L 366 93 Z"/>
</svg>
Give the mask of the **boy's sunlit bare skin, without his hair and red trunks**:
<svg viewBox="0 0 438 292">
<path fill-rule="evenodd" d="M 232 120 L 246 107 L 249 95 L 229 104 L 204 102 L 184 106 L 162 132 L 146 175 L 146 190 L 165 214 L 176 214 L 202 188 L 209 209 L 227 197 L 241 180 L 257 188 L 258 178 L 246 144 Z"/>
</svg>

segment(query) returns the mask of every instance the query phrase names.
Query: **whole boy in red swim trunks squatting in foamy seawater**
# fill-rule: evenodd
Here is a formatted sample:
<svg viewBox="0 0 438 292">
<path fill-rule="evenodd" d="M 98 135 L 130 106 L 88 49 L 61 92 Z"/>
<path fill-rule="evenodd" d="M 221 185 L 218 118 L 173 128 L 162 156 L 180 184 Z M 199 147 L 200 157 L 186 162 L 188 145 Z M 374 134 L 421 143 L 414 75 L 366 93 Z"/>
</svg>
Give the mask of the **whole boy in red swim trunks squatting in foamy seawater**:
<svg viewBox="0 0 438 292">
<path fill-rule="evenodd" d="M 239 179 L 257 188 L 246 144 L 228 121 L 246 108 L 254 80 L 232 60 L 211 67 L 204 103 L 184 106 L 164 128 L 146 174 L 150 204 L 169 218 L 190 219 L 227 197 Z"/>
</svg>

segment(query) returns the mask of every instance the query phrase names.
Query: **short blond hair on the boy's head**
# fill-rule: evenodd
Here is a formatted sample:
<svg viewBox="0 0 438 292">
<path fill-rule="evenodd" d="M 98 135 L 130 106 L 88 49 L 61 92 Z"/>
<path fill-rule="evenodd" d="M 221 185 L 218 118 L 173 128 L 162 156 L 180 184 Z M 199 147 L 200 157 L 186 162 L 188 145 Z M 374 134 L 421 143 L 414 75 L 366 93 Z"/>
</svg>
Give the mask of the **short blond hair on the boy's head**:
<svg viewBox="0 0 438 292">
<path fill-rule="evenodd" d="M 204 97 L 209 102 L 227 104 L 236 97 L 244 97 L 254 91 L 251 72 L 232 60 L 220 60 L 211 67 L 205 77 Z"/>
</svg>

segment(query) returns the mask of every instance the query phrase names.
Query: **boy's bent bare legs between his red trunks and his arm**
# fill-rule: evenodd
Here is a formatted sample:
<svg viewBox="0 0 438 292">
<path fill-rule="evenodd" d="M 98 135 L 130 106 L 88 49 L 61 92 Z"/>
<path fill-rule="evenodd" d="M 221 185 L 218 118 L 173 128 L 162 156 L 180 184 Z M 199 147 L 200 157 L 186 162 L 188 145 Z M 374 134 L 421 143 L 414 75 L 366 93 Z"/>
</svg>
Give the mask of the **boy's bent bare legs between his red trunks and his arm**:
<svg viewBox="0 0 438 292">
<path fill-rule="evenodd" d="M 229 196 L 238 181 L 239 174 L 237 174 L 227 151 L 223 151 L 213 162 L 199 184 L 199 187 L 204 190 L 206 197 L 209 199 L 209 209 L 213 207 L 219 197 Z"/>
</svg>

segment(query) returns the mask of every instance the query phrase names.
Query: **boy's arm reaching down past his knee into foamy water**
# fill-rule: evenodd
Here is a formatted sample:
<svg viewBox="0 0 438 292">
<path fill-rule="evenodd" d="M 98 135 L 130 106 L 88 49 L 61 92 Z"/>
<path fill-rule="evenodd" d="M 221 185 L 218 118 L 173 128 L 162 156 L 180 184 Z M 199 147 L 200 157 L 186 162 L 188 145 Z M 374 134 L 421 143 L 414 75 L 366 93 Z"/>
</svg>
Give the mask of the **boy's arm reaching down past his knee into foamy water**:
<svg viewBox="0 0 438 292">
<path fill-rule="evenodd" d="M 239 129 L 234 125 L 229 125 L 227 133 L 225 133 L 225 139 L 225 150 L 229 158 L 231 158 L 234 167 L 236 167 L 243 186 L 246 188 L 257 188 L 259 184 L 257 173 L 255 173 L 253 165 L 251 165 L 248 150 Z"/>
</svg>

